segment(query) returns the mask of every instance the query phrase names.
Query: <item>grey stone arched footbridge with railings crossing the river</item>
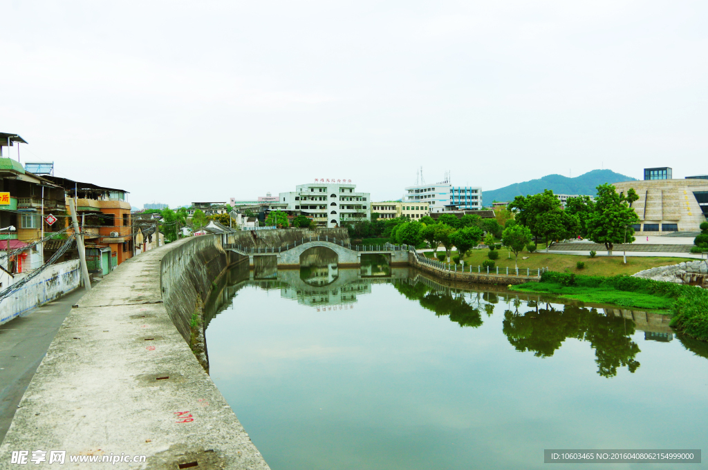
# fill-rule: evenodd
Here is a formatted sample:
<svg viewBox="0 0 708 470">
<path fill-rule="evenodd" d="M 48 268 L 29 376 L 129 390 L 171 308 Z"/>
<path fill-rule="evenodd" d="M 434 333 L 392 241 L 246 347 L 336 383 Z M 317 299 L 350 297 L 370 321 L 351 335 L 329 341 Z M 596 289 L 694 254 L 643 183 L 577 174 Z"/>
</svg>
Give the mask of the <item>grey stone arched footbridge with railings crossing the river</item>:
<svg viewBox="0 0 708 470">
<path fill-rule="evenodd" d="M 300 255 L 307 249 L 324 247 L 329 248 L 337 254 L 339 266 L 360 266 L 362 254 L 384 254 L 389 255 L 389 263 L 392 266 L 396 264 L 409 264 L 408 246 L 402 247 L 395 245 L 370 245 L 360 249 L 360 247 L 352 247 L 350 243 L 335 240 L 308 240 L 302 239 L 302 242 L 295 242 L 292 245 L 286 245 L 279 248 L 253 248 L 244 247 L 237 244 L 226 244 L 224 249 L 239 254 L 243 257 L 249 257 L 249 266 L 254 266 L 254 258 L 258 257 L 274 257 L 277 260 L 278 267 L 299 267 Z M 368 249 L 367 249 L 368 248 Z"/>
</svg>

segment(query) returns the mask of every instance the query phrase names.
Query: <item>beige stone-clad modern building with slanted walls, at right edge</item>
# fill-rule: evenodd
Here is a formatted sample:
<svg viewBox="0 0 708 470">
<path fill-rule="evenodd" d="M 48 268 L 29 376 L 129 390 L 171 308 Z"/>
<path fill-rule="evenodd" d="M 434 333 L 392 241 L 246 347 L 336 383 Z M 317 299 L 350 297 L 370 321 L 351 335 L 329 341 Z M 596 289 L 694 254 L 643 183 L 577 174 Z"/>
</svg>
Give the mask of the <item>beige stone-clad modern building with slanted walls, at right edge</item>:
<svg viewBox="0 0 708 470">
<path fill-rule="evenodd" d="M 662 170 L 647 168 L 646 170 Z M 645 175 L 646 175 L 645 170 Z M 670 175 L 664 168 L 661 175 Z M 654 173 L 649 173 L 649 176 Z M 634 188 L 639 196 L 632 208 L 640 223 L 634 226 L 639 235 L 659 235 L 670 232 L 697 232 L 708 214 L 708 180 L 686 178 L 684 180 L 650 179 L 615 183 L 617 192 L 627 194 Z"/>
</svg>

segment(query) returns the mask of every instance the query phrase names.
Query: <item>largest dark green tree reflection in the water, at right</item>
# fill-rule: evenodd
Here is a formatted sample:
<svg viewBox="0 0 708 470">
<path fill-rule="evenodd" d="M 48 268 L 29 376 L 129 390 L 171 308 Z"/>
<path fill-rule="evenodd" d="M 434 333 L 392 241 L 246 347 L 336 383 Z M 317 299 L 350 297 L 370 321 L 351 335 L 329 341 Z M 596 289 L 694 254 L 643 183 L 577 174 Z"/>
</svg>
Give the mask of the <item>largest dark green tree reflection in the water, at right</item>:
<svg viewBox="0 0 708 470">
<path fill-rule="evenodd" d="M 630 337 L 634 322 L 602 315 L 595 309 L 566 305 L 562 311 L 547 307 L 523 315 L 507 310 L 503 332 L 517 351 L 534 351 L 539 358 L 553 356 L 566 338 L 590 341 L 598 374 L 603 377 L 615 377 L 619 367 L 627 367 L 629 372 L 639 368 L 634 360 L 639 346 Z"/>
</svg>

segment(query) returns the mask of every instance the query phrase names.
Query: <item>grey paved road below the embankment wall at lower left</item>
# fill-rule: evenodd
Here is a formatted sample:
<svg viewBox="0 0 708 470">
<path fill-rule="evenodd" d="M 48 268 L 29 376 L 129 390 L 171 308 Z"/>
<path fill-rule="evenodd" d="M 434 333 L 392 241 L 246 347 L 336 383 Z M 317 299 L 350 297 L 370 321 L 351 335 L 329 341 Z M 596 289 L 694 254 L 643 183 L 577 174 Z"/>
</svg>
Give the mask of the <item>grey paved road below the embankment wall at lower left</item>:
<svg viewBox="0 0 708 470">
<path fill-rule="evenodd" d="M 0 325 L 0 442 L 52 339 L 84 293 L 78 288 Z"/>
</svg>

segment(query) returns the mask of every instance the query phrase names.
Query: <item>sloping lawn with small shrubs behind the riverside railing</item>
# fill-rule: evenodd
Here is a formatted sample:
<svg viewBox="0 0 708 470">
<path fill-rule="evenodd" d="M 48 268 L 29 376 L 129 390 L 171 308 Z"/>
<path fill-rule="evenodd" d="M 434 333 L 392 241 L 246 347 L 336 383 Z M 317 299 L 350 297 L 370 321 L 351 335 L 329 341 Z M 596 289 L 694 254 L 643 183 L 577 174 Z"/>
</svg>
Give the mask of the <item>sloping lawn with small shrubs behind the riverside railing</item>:
<svg viewBox="0 0 708 470">
<path fill-rule="evenodd" d="M 498 249 L 499 258 L 495 260 L 496 266 L 506 269 L 514 267 L 514 254 L 511 254 L 509 259 L 509 251 L 506 248 Z M 445 250 L 438 249 L 438 253 L 444 253 Z M 457 254 L 457 252 L 453 252 Z M 481 266 L 487 258 L 488 250 L 473 249 L 469 252 L 469 256 L 464 257 L 465 264 L 472 266 Z M 432 258 L 432 252 L 426 252 L 426 257 Z M 522 259 L 528 257 L 528 259 Z M 585 262 L 585 269 L 578 269 L 577 262 Z M 553 254 L 551 253 L 528 253 L 519 254 L 519 269 L 537 269 L 540 267 L 548 267 L 551 271 L 571 272 L 575 274 L 586 274 L 588 276 L 615 276 L 617 274 L 635 274 L 644 269 L 655 268 L 656 266 L 670 266 L 680 262 L 692 261 L 686 258 L 669 258 L 669 257 L 627 257 L 627 264 L 622 263 L 622 257 L 595 257 L 577 256 L 573 254 Z"/>
</svg>

